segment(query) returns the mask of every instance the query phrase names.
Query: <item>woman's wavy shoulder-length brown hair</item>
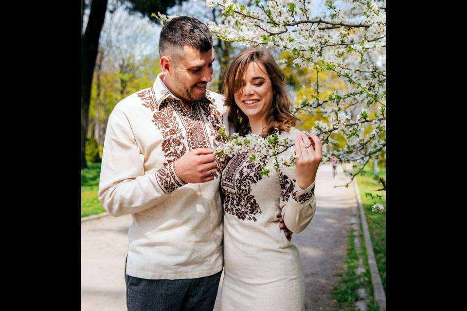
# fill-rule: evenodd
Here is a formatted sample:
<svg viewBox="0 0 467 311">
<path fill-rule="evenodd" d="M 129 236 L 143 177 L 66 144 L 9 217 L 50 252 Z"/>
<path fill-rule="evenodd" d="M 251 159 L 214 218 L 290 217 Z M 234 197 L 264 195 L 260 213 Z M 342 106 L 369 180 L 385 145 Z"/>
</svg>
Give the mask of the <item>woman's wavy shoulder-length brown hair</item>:
<svg viewBox="0 0 467 311">
<path fill-rule="evenodd" d="M 262 137 L 266 137 L 277 128 L 280 131 L 290 131 L 290 127 L 295 126 L 299 119 L 290 113 L 290 98 L 284 85 L 284 73 L 277 66 L 274 57 L 268 51 L 246 50 L 241 52 L 232 61 L 224 77 L 225 104 L 229 107 L 228 119 L 235 126 L 235 131 L 241 136 L 250 132 L 248 117 L 235 104 L 234 94 L 243 88 L 243 77 L 248 65 L 252 62 L 264 66 L 265 72 L 271 80 L 273 95 L 272 104 L 266 116 L 267 125 L 263 128 Z M 274 92 L 275 91 L 275 92 Z"/>
</svg>

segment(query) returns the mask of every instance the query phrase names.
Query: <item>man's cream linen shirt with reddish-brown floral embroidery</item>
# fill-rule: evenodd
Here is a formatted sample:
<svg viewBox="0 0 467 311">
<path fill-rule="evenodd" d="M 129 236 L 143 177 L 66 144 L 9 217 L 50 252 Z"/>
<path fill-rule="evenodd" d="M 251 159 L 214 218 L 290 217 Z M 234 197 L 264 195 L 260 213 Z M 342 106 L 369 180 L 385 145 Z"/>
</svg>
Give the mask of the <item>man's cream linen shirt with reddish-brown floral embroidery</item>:
<svg viewBox="0 0 467 311">
<path fill-rule="evenodd" d="M 112 216 L 131 214 L 126 273 L 146 279 L 213 275 L 223 267 L 220 173 L 213 181 L 183 182 L 174 162 L 191 149 L 223 143 L 222 95 L 206 91 L 190 114 L 163 84 L 118 103 L 107 126 L 99 200 Z M 228 132 L 228 129 L 225 129 Z"/>
</svg>

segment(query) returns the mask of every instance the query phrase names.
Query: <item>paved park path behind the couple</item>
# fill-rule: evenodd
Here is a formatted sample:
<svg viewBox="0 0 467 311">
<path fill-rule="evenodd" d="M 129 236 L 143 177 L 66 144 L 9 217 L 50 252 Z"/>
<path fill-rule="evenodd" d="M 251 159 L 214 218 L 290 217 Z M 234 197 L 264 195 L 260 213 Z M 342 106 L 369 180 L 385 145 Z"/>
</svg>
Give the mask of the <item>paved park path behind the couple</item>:
<svg viewBox="0 0 467 311">
<path fill-rule="evenodd" d="M 306 311 L 337 308 L 330 293 L 339 284 L 339 272 L 346 258 L 347 235 L 352 207 L 357 206 L 354 186 L 339 187 L 348 181 L 338 167 L 332 178 L 330 165 L 318 170 L 317 209 L 310 225 L 292 236 L 305 270 Z M 81 310 L 125 311 L 125 258 L 127 230 L 131 216 L 103 217 L 81 224 Z M 221 280 L 222 281 L 222 280 Z M 219 293 L 222 290 L 219 284 Z M 214 310 L 220 310 L 217 295 Z"/>
</svg>

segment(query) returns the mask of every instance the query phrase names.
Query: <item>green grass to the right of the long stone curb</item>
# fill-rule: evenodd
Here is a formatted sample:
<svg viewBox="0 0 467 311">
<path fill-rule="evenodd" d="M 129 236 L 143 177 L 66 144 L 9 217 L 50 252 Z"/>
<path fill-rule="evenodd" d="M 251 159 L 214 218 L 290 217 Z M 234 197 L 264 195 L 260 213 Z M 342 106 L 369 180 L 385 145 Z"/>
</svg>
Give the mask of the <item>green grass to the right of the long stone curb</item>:
<svg viewBox="0 0 467 311">
<path fill-rule="evenodd" d="M 386 182 L 386 170 L 381 169 L 379 176 Z M 363 210 L 365 211 L 365 215 L 367 215 L 366 221 L 368 230 L 370 231 L 379 275 L 381 276 L 384 293 L 386 293 L 386 213 L 380 214 L 372 211 L 372 206 L 376 203 L 380 203 L 386 207 L 386 191 L 375 191 L 383 187 L 380 182 L 375 182 L 372 168 L 365 168 L 363 175 L 357 176 L 356 179 Z M 381 198 L 376 197 L 376 195 L 380 195 Z"/>
</svg>

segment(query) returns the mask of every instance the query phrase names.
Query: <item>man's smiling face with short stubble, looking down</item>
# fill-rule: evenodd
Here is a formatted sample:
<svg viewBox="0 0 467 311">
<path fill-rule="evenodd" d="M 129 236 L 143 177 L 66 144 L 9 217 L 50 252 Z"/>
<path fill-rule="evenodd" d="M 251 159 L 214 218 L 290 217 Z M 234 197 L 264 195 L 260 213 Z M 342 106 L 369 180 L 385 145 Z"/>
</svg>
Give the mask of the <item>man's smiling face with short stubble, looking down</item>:
<svg viewBox="0 0 467 311">
<path fill-rule="evenodd" d="M 174 64 L 174 93 L 183 102 L 194 102 L 204 98 L 206 86 L 212 80 L 213 50 L 201 53 L 185 45 L 184 57 Z"/>
</svg>

